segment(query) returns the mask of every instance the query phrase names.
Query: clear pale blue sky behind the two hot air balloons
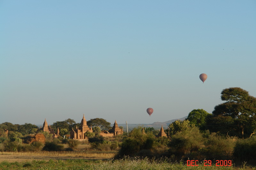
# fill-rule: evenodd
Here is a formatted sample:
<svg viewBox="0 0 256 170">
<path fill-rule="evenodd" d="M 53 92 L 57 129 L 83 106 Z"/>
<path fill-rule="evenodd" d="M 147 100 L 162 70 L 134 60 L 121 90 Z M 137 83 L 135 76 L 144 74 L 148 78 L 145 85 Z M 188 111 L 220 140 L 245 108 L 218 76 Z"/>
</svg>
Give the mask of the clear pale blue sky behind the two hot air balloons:
<svg viewBox="0 0 256 170">
<path fill-rule="evenodd" d="M 255 0 L 0 0 L 0 123 L 212 113 L 255 66 Z"/>
</svg>

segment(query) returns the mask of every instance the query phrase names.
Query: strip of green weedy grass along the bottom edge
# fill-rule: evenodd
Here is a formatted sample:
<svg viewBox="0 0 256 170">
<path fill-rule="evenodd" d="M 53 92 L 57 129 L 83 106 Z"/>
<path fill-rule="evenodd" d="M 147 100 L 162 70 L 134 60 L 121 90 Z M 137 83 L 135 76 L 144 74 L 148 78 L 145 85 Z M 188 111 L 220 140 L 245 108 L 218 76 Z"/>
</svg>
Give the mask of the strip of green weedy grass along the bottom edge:
<svg viewBox="0 0 256 170">
<path fill-rule="evenodd" d="M 244 167 L 234 167 L 234 166 L 204 166 L 203 163 L 200 163 L 198 166 L 187 166 L 183 163 L 170 163 L 169 159 L 160 159 L 160 160 L 151 160 L 148 158 L 138 159 L 138 158 L 124 158 L 124 159 L 66 159 L 66 160 L 53 160 L 49 161 L 45 160 L 33 160 L 33 161 L 24 161 L 24 162 L 0 162 L 0 169 L 36 169 L 36 170 L 101 170 L 101 169 L 113 169 L 113 170 L 161 170 L 161 169 L 169 169 L 169 170 L 189 170 L 189 169 L 199 169 L 199 170 L 215 170 L 215 169 L 243 169 L 243 170 L 256 170 L 256 167 L 244 166 Z"/>
</svg>

